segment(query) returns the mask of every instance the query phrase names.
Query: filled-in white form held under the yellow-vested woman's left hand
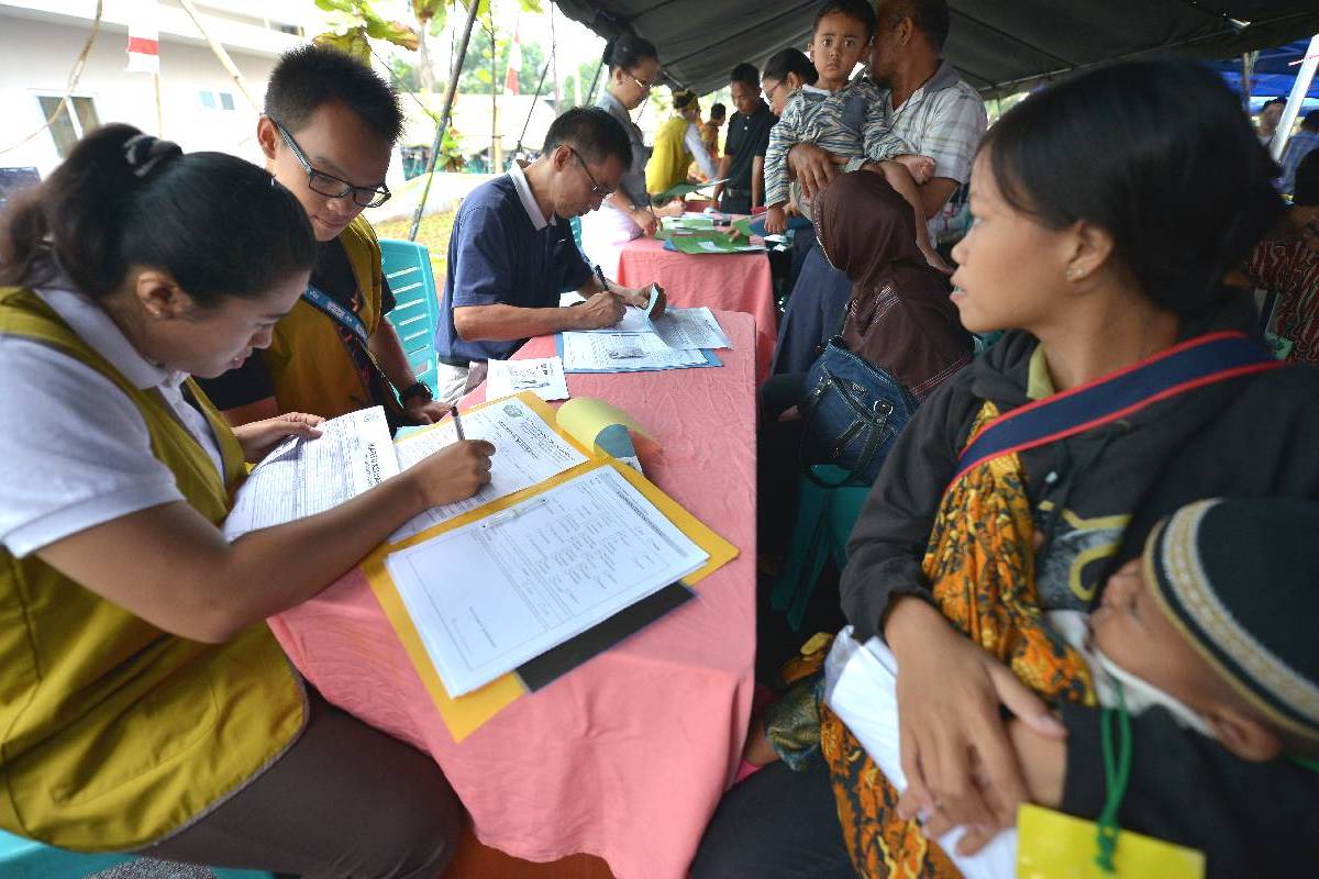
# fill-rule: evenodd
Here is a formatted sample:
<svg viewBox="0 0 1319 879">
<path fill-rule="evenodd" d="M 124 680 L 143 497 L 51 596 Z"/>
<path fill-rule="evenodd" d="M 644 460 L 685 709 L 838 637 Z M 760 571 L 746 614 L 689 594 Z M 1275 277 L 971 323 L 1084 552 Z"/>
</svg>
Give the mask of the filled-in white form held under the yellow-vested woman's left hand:
<svg viewBox="0 0 1319 879">
<path fill-rule="evenodd" d="M 398 473 L 380 406 L 321 424 L 317 439 L 289 438 L 248 474 L 224 519 L 224 536 L 324 513 Z"/>
</svg>

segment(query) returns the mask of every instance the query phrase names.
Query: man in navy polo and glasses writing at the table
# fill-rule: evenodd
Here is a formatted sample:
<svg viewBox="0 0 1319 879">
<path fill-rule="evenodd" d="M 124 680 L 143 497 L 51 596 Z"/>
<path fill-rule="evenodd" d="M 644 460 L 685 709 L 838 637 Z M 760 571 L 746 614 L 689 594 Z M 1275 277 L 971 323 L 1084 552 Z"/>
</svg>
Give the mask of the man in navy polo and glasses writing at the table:
<svg viewBox="0 0 1319 879">
<path fill-rule="evenodd" d="M 623 125 L 579 107 L 550 125 L 541 158 L 513 165 L 463 200 L 435 332 L 437 399 L 456 401 L 474 365 L 506 360 L 532 336 L 612 327 L 625 306 L 650 304 L 653 285 L 633 290 L 592 271 L 567 223 L 599 208 L 630 165 Z M 663 291 L 654 289 L 662 311 Z M 586 302 L 559 307 L 570 290 Z"/>
</svg>

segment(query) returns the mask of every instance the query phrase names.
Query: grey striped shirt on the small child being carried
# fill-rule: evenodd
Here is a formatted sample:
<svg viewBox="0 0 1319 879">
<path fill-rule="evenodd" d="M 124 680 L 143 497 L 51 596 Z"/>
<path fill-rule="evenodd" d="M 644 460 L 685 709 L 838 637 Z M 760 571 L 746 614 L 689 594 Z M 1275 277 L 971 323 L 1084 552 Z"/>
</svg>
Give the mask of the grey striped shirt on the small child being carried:
<svg viewBox="0 0 1319 879">
<path fill-rule="evenodd" d="M 890 130 L 880 91 L 861 78 L 835 92 L 802 86 L 787 99 L 765 150 L 765 204 L 770 207 L 787 200 L 787 150 L 795 144 L 814 144 L 845 156 L 849 161 L 844 171 L 913 152 Z"/>
</svg>

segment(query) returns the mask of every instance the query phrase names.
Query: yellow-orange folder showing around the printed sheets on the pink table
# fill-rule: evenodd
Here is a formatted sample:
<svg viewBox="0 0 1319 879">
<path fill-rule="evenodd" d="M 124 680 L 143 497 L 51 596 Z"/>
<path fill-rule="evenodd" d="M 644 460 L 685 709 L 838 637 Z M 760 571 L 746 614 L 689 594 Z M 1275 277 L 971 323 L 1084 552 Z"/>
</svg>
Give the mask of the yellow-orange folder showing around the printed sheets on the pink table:
<svg viewBox="0 0 1319 879">
<path fill-rule="evenodd" d="M 435 702 L 435 709 L 443 718 L 445 725 L 448 727 L 450 735 L 454 737 L 455 742 L 462 742 L 464 738 L 471 735 L 474 731 L 480 729 L 489 718 L 495 717 L 505 706 L 508 706 L 513 700 L 518 698 L 526 693 L 526 688 L 522 681 L 514 673 L 504 675 L 485 687 L 477 691 L 467 693 L 466 696 L 451 697 L 445 691 L 445 684 L 439 680 L 439 673 L 435 671 L 434 664 L 430 662 L 430 656 L 426 654 L 426 647 L 422 644 L 421 634 L 418 634 L 417 627 L 413 625 L 412 617 L 408 614 L 408 609 L 404 606 L 402 598 L 398 596 L 398 590 L 394 588 L 393 579 L 389 576 L 389 569 L 385 567 L 385 559 L 392 552 L 397 552 L 404 547 L 410 547 L 423 540 L 429 540 L 438 534 L 451 531 L 454 528 L 477 522 L 492 513 L 497 513 L 503 509 L 521 503 L 529 497 L 536 497 L 542 492 L 563 482 L 576 478 L 583 473 L 595 470 L 603 467 L 612 467 L 619 473 L 623 474 L 628 482 L 632 484 L 646 499 L 656 505 L 665 518 L 673 522 L 679 531 L 682 531 L 687 538 L 700 547 L 706 553 L 710 555 L 710 560 L 696 569 L 695 572 L 683 577 L 683 582 L 687 585 L 695 585 L 700 582 L 707 576 L 728 564 L 737 557 L 737 547 L 724 540 L 721 536 L 715 534 L 712 530 L 706 527 L 696 517 L 691 515 L 681 507 L 677 501 L 670 498 L 667 494 L 661 492 L 653 482 L 646 480 L 644 476 L 633 470 L 630 467 L 620 464 L 613 457 L 596 457 L 591 451 L 586 449 L 580 443 L 572 439 L 568 434 L 559 430 L 555 420 L 554 407 L 542 401 L 536 394 L 530 391 L 524 391 L 516 395 L 521 399 L 529 409 L 536 411 L 550 428 L 562 436 L 574 448 L 587 456 L 587 461 L 578 464 L 576 467 L 559 473 L 558 476 L 550 477 L 549 480 L 533 485 L 528 489 L 509 494 L 508 497 L 499 498 L 497 501 L 491 501 L 489 503 L 480 506 L 475 510 L 464 513 L 455 517 L 447 522 L 441 522 L 439 525 L 431 526 L 425 531 L 415 534 L 406 540 L 398 543 L 385 543 L 377 547 L 369 556 L 361 561 L 361 571 L 367 576 L 367 582 L 371 584 L 371 590 L 375 593 L 376 600 L 380 602 L 381 609 L 385 611 L 385 617 L 389 619 L 389 625 L 393 627 L 394 634 L 398 635 L 398 640 L 402 643 L 404 650 L 408 652 L 408 658 L 412 660 L 413 667 L 421 676 L 422 684 L 430 693 Z M 495 403 L 503 402 L 504 399 L 510 399 L 508 397 L 483 403 L 481 406 L 474 406 L 472 411 L 483 409 L 484 406 L 492 406 Z M 419 431 L 418 434 L 423 434 Z M 413 434 L 400 443 L 406 443 L 413 436 Z"/>
</svg>

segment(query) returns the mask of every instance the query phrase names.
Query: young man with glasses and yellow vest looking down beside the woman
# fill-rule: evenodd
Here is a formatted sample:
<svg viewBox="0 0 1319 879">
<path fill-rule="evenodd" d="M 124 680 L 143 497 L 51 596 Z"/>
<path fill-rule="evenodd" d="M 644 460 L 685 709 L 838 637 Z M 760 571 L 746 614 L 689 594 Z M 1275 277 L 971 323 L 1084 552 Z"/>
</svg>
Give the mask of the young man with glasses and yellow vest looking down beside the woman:
<svg viewBox="0 0 1319 879">
<path fill-rule="evenodd" d="M 294 49 L 272 72 L 257 144 L 266 169 L 306 210 L 319 248 L 307 290 L 276 324 L 270 347 L 203 382 L 231 423 L 384 406 L 397 427 L 447 411 L 417 381 L 384 320 L 394 300 L 361 216 L 389 199 L 385 173 L 401 130 L 389 84 L 338 50 Z"/>
</svg>

